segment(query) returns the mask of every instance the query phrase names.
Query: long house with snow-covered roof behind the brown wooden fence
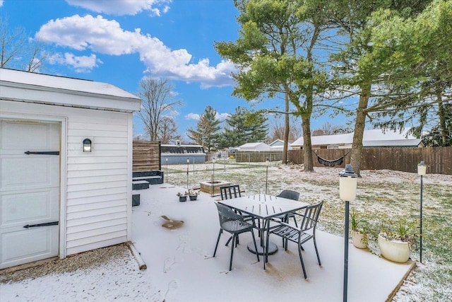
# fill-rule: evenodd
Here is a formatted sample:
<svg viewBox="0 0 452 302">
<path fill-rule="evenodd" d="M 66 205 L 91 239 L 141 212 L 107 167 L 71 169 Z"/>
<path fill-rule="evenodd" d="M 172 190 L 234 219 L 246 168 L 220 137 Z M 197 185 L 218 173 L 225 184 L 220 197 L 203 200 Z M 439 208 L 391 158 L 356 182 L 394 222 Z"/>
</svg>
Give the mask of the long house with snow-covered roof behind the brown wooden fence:
<svg viewBox="0 0 452 302">
<path fill-rule="evenodd" d="M 423 146 L 421 139 L 416 139 L 412 135 L 406 136 L 408 130 L 406 128 L 402 133 L 391 130 L 383 133 L 381 129 L 364 130 L 362 145 L 364 148 Z M 303 141 L 303 137 L 300 137 L 290 146 L 292 149 L 303 149 Z M 313 149 L 351 149 L 352 142 L 353 133 L 311 137 Z"/>
</svg>

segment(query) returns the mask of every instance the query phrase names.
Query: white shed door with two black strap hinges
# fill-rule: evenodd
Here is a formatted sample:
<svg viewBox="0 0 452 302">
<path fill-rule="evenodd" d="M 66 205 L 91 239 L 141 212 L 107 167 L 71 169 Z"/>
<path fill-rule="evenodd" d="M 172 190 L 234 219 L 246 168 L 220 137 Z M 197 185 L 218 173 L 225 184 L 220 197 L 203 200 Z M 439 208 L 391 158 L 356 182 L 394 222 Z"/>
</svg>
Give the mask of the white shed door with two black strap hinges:
<svg viewBox="0 0 452 302">
<path fill-rule="evenodd" d="M 3 269 L 58 255 L 61 126 L 0 120 L 0 127 Z"/>
</svg>

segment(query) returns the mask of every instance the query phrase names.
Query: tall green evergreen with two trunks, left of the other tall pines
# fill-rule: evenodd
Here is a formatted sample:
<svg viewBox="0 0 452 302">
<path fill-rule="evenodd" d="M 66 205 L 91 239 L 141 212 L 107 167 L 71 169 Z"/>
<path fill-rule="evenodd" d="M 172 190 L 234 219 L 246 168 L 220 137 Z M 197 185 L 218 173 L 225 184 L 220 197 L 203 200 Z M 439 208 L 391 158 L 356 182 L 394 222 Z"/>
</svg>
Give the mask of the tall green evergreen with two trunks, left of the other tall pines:
<svg viewBox="0 0 452 302">
<path fill-rule="evenodd" d="M 215 49 L 236 64 L 233 95 L 247 101 L 284 98 L 283 163 L 287 162 L 289 114 L 301 117 L 304 170 L 314 170 L 311 115 L 319 110 L 319 95 L 328 88 L 328 72 L 321 64 L 329 15 L 319 13 L 326 0 L 237 0 L 241 26 L 235 42 L 216 42 Z M 293 112 L 290 110 L 292 106 Z"/>
</svg>

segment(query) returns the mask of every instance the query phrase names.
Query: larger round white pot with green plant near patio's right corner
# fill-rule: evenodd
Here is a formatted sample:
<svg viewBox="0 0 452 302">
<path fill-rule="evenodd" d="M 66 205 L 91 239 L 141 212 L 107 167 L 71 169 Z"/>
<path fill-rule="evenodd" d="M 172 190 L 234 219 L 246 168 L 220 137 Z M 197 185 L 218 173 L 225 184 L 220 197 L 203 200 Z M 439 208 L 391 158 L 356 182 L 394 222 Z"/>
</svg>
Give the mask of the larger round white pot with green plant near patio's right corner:
<svg viewBox="0 0 452 302">
<path fill-rule="evenodd" d="M 379 233 L 378 243 L 381 255 L 393 262 L 405 263 L 410 259 L 412 245 L 415 243 L 414 229 L 417 221 L 406 219 L 389 221 L 388 228 Z"/>
</svg>

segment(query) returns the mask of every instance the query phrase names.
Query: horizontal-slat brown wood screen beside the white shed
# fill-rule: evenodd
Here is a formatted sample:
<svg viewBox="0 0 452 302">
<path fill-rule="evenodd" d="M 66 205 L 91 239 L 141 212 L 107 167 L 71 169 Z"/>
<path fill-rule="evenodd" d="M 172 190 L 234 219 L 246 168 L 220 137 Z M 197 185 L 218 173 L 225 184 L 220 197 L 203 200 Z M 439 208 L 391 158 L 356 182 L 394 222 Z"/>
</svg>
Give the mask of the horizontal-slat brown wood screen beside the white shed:
<svg viewBox="0 0 452 302">
<path fill-rule="evenodd" d="M 160 141 L 133 141 L 132 170 L 161 170 Z"/>
</svg>

